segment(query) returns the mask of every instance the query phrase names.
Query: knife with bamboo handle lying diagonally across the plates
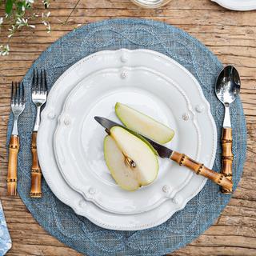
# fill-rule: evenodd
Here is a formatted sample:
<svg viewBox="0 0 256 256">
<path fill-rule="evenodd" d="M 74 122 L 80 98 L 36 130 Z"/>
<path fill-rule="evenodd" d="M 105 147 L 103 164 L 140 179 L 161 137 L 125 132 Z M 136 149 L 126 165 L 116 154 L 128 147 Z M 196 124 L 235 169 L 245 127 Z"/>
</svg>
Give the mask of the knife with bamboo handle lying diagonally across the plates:
<svg viewBox="0 0 256 256">
<path fill-rule="evenodd" d="M 110 129 L 114 126 L 120 126 L 128 131 L 130 131 L 132 134 L 137 134 L 133 130 L 130 130 L 126 128 L 125 126 L 122 126 L 118 124 L 117 122 L 113 122 L 107 118 L 102 117 L 94 117 L 97 122 L 99 122 L 104 128 L 106 128 L 106 132 L 109 134 Z M 142 136 L 141 134 L 138 134 L 139 136 Z M 232 192 L 232 186 L 233 182 L 231 182 L 228 178 L 226 178 L 223 174 L 219 174 L 215 172 L 214 170 L 210 170 L 206 166 L 204 166 L 202 163 L 196 162 L 193 159 L 186 156 L 186 154 L 178 153 L 177 151 L 170 150 L 166 146 L 162 146 L 158 144 L 157 142 L 152 141 L 150 138 L 146 138 L 145 136 L 142 136 L 145 138 L 148 142 L 150 142 L 151 146 L 154 147 L 154 150 L 157 151 L 158 156 L 160 158 L 169 158 L 173 160 L 174 162 L 177 162 L 180 166 L 186 166 L 190 170 L 193 170 L 194 173 L 198 175 L 202 175 L 206 178 L 209 178 L 214 183 L 218 184 L 219 186 L 222 186 L 223 189 L 226 191 Z"/>
</svg>

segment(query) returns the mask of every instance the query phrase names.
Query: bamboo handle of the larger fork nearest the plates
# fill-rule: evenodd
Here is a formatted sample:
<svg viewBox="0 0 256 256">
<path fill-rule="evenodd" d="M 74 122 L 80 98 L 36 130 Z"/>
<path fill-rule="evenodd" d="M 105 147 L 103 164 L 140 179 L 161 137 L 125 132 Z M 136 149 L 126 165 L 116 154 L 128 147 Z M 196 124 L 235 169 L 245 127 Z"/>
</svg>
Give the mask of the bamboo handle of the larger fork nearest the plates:
<svg viewBox="0 0 256 256">
<path fill-rule="evenodd" d="M 38 162 L 37 150 L 37 136 L 38 132 L 34 131 L 32 134 L 31 151 L 32 151 L 32 167 L 31 167 L 31 198 L 42 198 L 41 180 L 42 171 Z"/>
</svg>

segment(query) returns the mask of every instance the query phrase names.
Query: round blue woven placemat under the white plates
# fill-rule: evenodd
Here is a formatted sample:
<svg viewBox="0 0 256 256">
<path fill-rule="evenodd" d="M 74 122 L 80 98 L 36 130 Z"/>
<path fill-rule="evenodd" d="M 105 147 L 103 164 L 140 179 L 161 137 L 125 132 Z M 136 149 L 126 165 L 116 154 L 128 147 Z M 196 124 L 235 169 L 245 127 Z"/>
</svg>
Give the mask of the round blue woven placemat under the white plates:
<svg viewBox="0 0 256 256">
<path fill-rule="evenodd" d="M 214 94 L 214 82 L 222 64 L 202 43 L 182 30 L 162 22 L 145 19 L 113 19 L 82 26 L 52 44 L 34 62 L 32 68 L 46 69 L 47 81 L 52 86 L 56 79 L 75 62 L 100 50 L 150 49 L 166 54 L 190 70 L 202 86 L 218 130 L 218 149 L 214 170 L 221 168 L 221 131 L 224 109 Z M 174 214 L 167 222 L 149 230 L 104 230 L 86 218 L 74 214 L 69 206 L 60 202 L 46 182 L 42 181 L 44 197 L 29 197 L 30 192 L 30 139 L 35 117 L 31 103 L 30 86 L 32 68 L 24 78 L 26 110 L 18 130 L 21 150 L 18 154 L 18 193 L 38 223 L 67 246 L 87 255 L 163 255 L 170 253 L 202 234 L 221 213 L 230 195 L 219 192 L 218 186 L 208 181 L 203 190 L 184 210 Z M 246 154 L 246 122 L 240 99 L 232 104 L 231 121 L 234 153 L 234 189 L 242 174 Z M 13 115 L 10 114 L 7 143 Z"/>
</svg>

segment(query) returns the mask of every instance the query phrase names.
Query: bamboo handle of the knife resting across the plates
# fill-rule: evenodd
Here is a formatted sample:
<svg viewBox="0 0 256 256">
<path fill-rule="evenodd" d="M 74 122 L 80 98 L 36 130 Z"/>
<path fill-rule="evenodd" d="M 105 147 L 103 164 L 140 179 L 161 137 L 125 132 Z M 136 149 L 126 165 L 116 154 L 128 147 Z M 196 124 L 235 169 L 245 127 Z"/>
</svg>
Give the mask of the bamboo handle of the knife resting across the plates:
<svg viewBox="0 0 256 256">
<path fill-rule="evenodd" d="M 186 156 L 186 154 L 180 154 L 174 151 L 173 154 L 171 154 L 170 159 L 174 160 L 174 162 L 178 162 L 180 166 L 188 167 L 198 175 L 209 178 L 214 183 L 222 186 L 222 188 L 225 189 L 228 193 L 232 192 L 233 183 L 228 178 L 226 178 L 224 174 L 218 174 L 214 170 L 210 170 L 203 164 L 195 162 L 193 159 Z"/>
</svg>

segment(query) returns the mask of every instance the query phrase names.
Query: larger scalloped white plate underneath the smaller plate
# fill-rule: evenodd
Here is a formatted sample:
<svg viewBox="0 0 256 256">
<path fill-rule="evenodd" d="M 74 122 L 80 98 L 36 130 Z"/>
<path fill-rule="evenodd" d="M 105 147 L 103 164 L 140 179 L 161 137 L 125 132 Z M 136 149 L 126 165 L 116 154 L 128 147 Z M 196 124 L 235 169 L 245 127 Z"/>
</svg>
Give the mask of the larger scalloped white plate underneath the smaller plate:
<svg viewBox="0 0 256 256">
<path fill-rule="evenodd" d="M 46 182 L 50 186 L 50 189 L 54 192 L 57 198 L 70 206 L 77 214 L 90 219 L 91 222 L 94 222 L 98 226 L 111 230 L 143 230 L 160 225 L 162 222 L 165 222 L 170 218 L 176 211 L 182 210 L 182 208 L 186 206 L 186 202 L 202 190 L 202 187 L 206 183 L 206 178 L 200 177 L 191 172 L 186 186 L 184 186 L 182 190 L 178 190 L 176 194 L 172 193 L 172 187 L 168 185 L 162 186 L 162 194 L 164 194 L 166 198 L 171 199 L 165 200 L 153 210 L 147 210 L 138 214 L 117 214 L 108 210 L 103 210 L 94 202 L 86 200 L 82 194 L 72 189 L 62 177 L 54 155 L 54 132 L 58 125 L 58 117 L 62 112 L 62 107 L 64 106 L 66 98 L 70 92 L 75 88 L 75 86 L 80 85 L 80 82 L 84 79 L 89 76 L 93 76 L 94 73 L 100 70 L 120 69 L 125 66 L 143 67 L 154 70 L 155 72 L 166 76 L 178 86 L 183 86 L 185 94 L 191 95 L 190 112 L 182 114 L 182 117 L 180 118 L 184 123 L 190 122 L 189 120 L 192 117 L 194 117 L 194 120 L 198 122 L 201 138 L 207 138 L 208 140 L 207 143 L 205 143 L 201 139 L 203 143 L 200 146 L 201 150 L 196 160 L 204 162 L 208 167 L 213 166 L 217 144 L 217 132 L 214 119 L 210 114 L 209 103 L 203 97 L 201 87 L 198 85 L 198 82 L 193 75 L 190 74 L 190 72 L 188 72 L 183 66 L 179 65 L 178 62 L 174 62 L 171 58 L 151 50 L 122 49 L 116 51 L 102 51 L 83 58 L 81 61 L 75 63 L 74 66 L 71 66 L 66 70 L 66 72 L 64 72 L 54 83 L 54 86 L 48 95 L 46 107 L 42 111 L 42 122 L 38 130 L 38 158 L 42 167 L 42 173 Z M 156 85 L 156 89 L 157 87 L 158 85 Z M 148 94 L 150 93 L 148 92 Z M 102 97 L 105 98 L 104 95 Z M 151 94 L 150 98 L 152 98 Z M 116 102 L 117 101 L 121 100 L 117 99 Z M 162 103 L 162 106 L 165 106 L 166 108 L 166 103 Z M 159 105 L 161 110 L 162 106 L 161 104 Z M 146 108 L 144 107 L 143 110 L 146 110 Z M 93 112 L 91 113 L 94 114 Z M 111 110 L 108 113 L 110 115 L 105 115 L 106 117 L 113 117 L 113 115 L 111 116 Z M 98 115 L 100 114 L 101 113 L 98 113 Z M 165 115 L 160 115 L 158 117 L 163 122 L 170 122 L 170 119 L 166 119 Z M 68 124 L 69 120 L 67 120 L 66 123 Z M 177 121 L 175 120 L 174 125 L 176 123 Z M 97 123 L 95 122 L 94 125 L 96 126 Z M 103 128 L 99 125 L 97 126 L 97 133 L 99 134 L 98 136 L 102 136 L 103 138 Z M 179 140 L 171 143 L 174 143 L 173 145 L 170 145 L 174 150 L 179 149 Z M 92 146 L 94 146 L 94 144 Z M 177 146 L 177 148 L 174 148 L 174 146 Z M 97 150 L 97 146 L 92 148 L 92 150 Z M 191 152 L 189 150 L 190 149 L 186 149 L 186 151 L 182 153 L 188 154 L 188 152 Z M 202 152 L 204 154 L 202 154 Z M 98 156 L 98 158 L 102 158 L 102 155 Z M 166 161 L 170 162 L 170 160 Z M 168 165 L 169 164 L 174 166 L 172 163 L 168 163 Z M 171 169 L 172 168 L 170 168 L 170 171 Z M 186 172 L 185 169 L 181 168 L 181 172 L 183 171 Z M 158 179 L 160 180 L 161 174 L 159 175 Z M 91 186 L 94 187 L 94 184 L 91 184 Z M 97 194 L 97 191 L 92 189 L 90 190 L 90 194 Z"/>
</svg>

